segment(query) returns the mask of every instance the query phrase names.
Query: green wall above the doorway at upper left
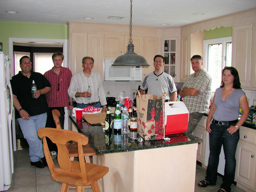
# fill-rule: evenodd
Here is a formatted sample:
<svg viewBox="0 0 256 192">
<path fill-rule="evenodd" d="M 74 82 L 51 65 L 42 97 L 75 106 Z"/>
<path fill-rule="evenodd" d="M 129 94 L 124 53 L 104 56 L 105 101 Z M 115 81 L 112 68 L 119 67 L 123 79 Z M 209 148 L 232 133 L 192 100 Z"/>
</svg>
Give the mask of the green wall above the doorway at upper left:
<svg viewBox="0 0 256 192">
<path fill-rule="evenodd" d="M 0 42 L 9 54 L 9 38 L 68 39 L 66 24 L 0 21 Z"/>
</svg>

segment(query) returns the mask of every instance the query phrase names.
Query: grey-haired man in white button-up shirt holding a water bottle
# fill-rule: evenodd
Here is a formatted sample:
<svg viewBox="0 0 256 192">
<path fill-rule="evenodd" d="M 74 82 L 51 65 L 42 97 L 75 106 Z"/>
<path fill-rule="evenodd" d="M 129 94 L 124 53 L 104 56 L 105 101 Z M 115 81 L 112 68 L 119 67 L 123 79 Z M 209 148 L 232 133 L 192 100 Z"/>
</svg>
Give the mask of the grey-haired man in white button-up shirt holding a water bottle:
<svg viewBox="0 0 256 192">
<path fill-rule="evenodd" d="M 84 68 L 82 71 L 72 76 L 68 95 L 76 101 L 77 108 L 103 107 L 102 112 L 106 112 L 107 101 L 100 74 L 92 71 L 94 59 L 88 56 L 84 57 L 82 67 Z M 87 91 L 88 86 L 91 88 L 91 93 Z"/>
</svg>

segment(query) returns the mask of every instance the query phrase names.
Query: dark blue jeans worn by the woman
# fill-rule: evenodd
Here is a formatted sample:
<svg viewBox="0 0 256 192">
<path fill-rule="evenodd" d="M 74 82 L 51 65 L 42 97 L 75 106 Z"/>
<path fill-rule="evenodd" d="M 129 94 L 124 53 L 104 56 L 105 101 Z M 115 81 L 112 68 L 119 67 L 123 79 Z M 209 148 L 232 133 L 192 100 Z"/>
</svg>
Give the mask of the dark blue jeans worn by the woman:
<svg viewBox="0 0 256 192">
<path fill-rule="evenodd" d="M 225 154 L 225 169 L 224 176 L 222 178 L 223 183 L 220 188 L 230 192 L 236 171 L 236 146 L 239 140 L 239 129 L 232 135 L 227 131 L 230 127 L 226 125 L 211 124 L 210 128 L 212 132 L 209 134 L 209 144 L 210 144 L 210 155 L 208 160 L 208 166 L 206 170 L 206 180 L 210 184 L 216 184 L 217 180 L 217 170 L 219 164 L 219 156 L 221 151 L 221 146 L 223 145 L 223 150 Z"/>
</svg>

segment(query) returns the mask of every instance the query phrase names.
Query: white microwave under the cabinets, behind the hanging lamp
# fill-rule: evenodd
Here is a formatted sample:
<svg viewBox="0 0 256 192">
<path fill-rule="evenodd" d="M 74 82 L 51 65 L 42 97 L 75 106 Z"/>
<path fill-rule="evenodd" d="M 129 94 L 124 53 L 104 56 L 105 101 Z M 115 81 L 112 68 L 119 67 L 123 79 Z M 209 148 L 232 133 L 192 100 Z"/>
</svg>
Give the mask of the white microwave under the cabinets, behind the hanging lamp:
<svg viewBox="0 0 256 192">
<path fill-rule="evenodd" d="M 133 66 L 111 66 L 114 59 L 104 60 L 105 81 L 141 81 L 142 68 Z"/>
</svg>

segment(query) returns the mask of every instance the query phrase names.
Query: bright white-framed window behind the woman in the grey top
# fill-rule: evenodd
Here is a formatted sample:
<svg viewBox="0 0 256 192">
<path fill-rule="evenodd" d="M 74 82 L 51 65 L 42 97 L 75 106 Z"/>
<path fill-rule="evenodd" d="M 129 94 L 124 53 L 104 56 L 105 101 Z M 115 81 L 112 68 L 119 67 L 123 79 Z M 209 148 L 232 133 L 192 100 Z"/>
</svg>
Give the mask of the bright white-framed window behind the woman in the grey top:
<svg viewBox="0 0 256 192">
<path fill-rule="evenodd" d="M 212 76 L 212 92 L 220 87 L 222 69 L 231 66 L 231 57 L 231 37 L 204 40 L 204 67 Z"/>
</svg>

